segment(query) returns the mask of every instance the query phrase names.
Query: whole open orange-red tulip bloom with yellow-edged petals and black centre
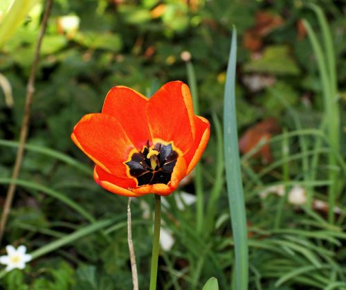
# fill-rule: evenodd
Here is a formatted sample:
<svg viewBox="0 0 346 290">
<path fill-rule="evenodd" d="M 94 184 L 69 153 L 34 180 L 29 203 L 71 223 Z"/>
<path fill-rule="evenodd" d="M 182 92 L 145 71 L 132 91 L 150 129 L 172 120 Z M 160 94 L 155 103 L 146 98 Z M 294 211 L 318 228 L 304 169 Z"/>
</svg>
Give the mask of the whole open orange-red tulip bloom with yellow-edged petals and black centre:
<svg viewBox="0 0 346 290">
<path fill-rule="evenodd" d="M 201 158 L 209 135 L 208 120 L 194 115 L 190 89 L 175 81 L 152 98 L 113 87 L 102 112 L 84 116 L 71 138 L 95 163 L 96 183 L 139 197 L 172 193 Z"/>
</svg>

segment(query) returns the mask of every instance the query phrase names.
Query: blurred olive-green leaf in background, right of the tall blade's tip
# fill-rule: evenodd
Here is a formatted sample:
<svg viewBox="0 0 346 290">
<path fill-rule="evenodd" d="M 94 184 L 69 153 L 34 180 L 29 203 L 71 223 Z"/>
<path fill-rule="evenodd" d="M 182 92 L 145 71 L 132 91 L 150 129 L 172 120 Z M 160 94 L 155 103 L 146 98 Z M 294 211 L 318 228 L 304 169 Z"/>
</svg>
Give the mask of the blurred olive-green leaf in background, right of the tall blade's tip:
<svg viewBox="0 0 346 290">
<path fill-rule="evenodd" d="M 288 46 L 268 46 L 262 57 L 244 65 L 248 73 L 272 73 L 274 75 L 298 75 L 300 70 L 289 53 Z"/>
</svg>

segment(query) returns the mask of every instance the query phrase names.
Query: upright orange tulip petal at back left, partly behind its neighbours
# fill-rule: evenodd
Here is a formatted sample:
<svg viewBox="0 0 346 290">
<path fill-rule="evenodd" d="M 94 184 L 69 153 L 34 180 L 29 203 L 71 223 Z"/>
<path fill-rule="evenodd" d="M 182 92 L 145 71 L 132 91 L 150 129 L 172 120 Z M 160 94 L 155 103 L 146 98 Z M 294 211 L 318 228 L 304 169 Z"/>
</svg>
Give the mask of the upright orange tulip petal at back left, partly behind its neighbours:
<svg viewBox="0 0 346 290">
<path fill-rule="evenodd" d="M 113 87 L 104 100 L 102 113 L 115 117 L 137 149 L 151 141 L 145 107 L 147 98 L 128 87 Z"/>
</svg>

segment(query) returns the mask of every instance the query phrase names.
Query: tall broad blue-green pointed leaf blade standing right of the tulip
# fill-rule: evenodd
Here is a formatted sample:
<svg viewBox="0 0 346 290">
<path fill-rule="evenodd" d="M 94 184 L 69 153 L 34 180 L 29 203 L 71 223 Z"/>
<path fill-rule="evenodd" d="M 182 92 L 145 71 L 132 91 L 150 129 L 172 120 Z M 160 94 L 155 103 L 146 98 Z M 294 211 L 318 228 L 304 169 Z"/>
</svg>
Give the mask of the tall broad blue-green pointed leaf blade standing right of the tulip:
<svg viewBox="0 0 346 290">
<path fill-rule="evenodd" d="M 233 28 L 224 96 L 224 158 L 230 217 L 235 243 L 235 283 L 237 289 L 247 290 L 248 237 L 235 109 L 236 55 L 237 30 Z"/>
</svg>

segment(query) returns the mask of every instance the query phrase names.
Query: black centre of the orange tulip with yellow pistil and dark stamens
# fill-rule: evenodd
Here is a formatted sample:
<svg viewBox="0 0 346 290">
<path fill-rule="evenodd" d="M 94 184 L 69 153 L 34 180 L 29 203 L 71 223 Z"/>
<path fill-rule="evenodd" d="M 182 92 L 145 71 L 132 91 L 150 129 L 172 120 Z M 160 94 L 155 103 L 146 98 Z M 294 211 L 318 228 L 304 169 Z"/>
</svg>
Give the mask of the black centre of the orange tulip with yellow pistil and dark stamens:
<svg viewBox="0 0 346 290">
<path fill-rule="evenodd" d="M 142 151 L 134 153 L 131 160 L 125 163 L 129 167 L 131 176 L 137 179 L 138 186 L 164 183 L 171 180 L 178 153 L 172 144 L 156 143 L 154 147 L 147 146 Z"/>
</svg>

